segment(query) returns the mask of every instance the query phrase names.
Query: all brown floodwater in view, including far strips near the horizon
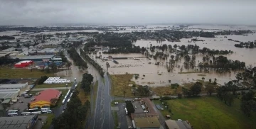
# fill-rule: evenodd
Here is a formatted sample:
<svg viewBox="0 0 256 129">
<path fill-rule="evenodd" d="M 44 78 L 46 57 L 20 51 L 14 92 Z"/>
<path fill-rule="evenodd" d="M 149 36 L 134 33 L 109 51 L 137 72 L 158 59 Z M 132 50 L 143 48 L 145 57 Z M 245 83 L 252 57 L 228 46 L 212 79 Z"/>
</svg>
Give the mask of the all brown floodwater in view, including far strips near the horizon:
<svg viewBox="0 0 256 129">
<path fill-rule="evenodd" d="M 157 26 L 146 26 L 144 27 L 138 27 L 138 28 L 129 28 L 124 27 L 126 30 L 119 30 L 114 31 L 115 33 L 127 33 L 132 32 L 134 30 L 137 31 L 144 31 L 144 30 L 162 30 L 165 27 L 169 28 L 172 27 L 172 25 L 169 26 L 159 26 L 161 28 L 157 28 Z M 255 27 L 247 27 L 247 26 L 188 26 L 188 28 L 184 28 L 184 30 L 204 30 L 204 31 L 220 31 L 220 30 L 256 30 Z M 14 35 L 18 31 L 9 31 L 9 32 L 1 32 L 0 35 Z M 98 30 L 71 30 L 71 31 L 52 31 L 52 32 L 42 32 L 43 34 L 54 34 L 54 33 L 75 33 L 75 32 L 99 32 L 102 33 L 102 31 Z M 228 38 L 224 38 L 225 35 L 218 35 L 216 38 L 198 38 L 199 40 L 205 40 L 203 42 L 195 42 L 195 43 L 188 43 L 188 40 L 191 39 L 181 39 L 181 42 L 169 42 L 164 41 L 162 43 L 156 43 L 155 40 L 137 40 L 134 45 L 140 46 L 140 47 L 149 47 L 150 44 L 152 45 L 198 45 L 201 48 L 208 47 L 210 49 L 215 50 L 233 50 L 232 55 L 225 55 L 230 60 L 240 60 L 242 62 L 245 62 L 246 65 L 252 64 L 252 66 L 255 66 L 255 55 L 256 55 L 256 49 L 249 49 L 249 48 L 238 48 L 234 45 L 236 44 L 233 41 L 228 40 L 229 38 L 233 40 L 239 40 L 242 42 L 247 41 L 254 41 L 256 40 L 256 34 L 249 34 L 249 35 L 226 35 Z M 17 36 L 16 36 L 17 37 Z M 20 36 L 18 36 L 20 37 Z M 154 54 L 154 53 L 153 53 Z M 169 54 L 169 52 L 166 52 L 166 54 Z M 99 53 L 97 53 L 99 55 Z M 139 79 L 133 79 L 137 84 L 142 85 L 149 85 L 149 86 L 166 86 L 169 84 L 169 80 L 171 80 L 171 83 L 185 83 L 185 82 L 195 82 L 196 79 L 201 79 L 204 75 L 206 80 L 215 78 L 218 80 L 218 84 L 224 84 L 224 82 L 228 82 L 231 79 L 235 79 L 234 72 L 226 73 L 226 74 L 218 74 L 215 72 L 209 72 L 209 73 L 193 73 L 193 74 L 178 74 L 178 72 L 181 72 L 180 67 L 183 67 L 184 60 L 181 59 L 180 62 L 178 62 L 177 66 L 174 67 L 174 70 L 172 72 L 167 72 L 166 69 L 166 62 L 169 62 L 169 58 L 167 60 L 154 60 L 151 58 L 151 60 L 148 60 L 145 58 L 142 54 L 102 54 L 102 57 L 107 57 L 111 55 L 112 57 L 143 57 L 141 60 L 117 60 L 119 64 L 114 64 L 114 62 L 107 61 L 110 63 L 109 72 L 110 74 L 139 74 Z M 175 54 L 169 54 L 169 55 L 175 55 Z M 217 56 L 217 55 L 216 55 Z M 95 59 L 95 57 L 93 57 Z M 202 62 L 203 55 L 196 55 L 196 63 Z M 69 57 L 68 57 L 68 60 Z M 107 69 L 106 62 L 102 62 L 100 59 L 95 59 L 104 69 Z M 72 60 L 70 60 L 72 62 Z M 155 65 L 155 62 L 160 62 L 160 65 Z M 80 71 L 78 67 L 75 65 L 71 66 L 70 70 L 65 70 L 63 72 L 58 72 L 56 75 L 60 77 L 67 77 L 70 80 L 73 80 L 75 77 L 78 79 L 78 81 L 82 80 L 82 74 L 85 72 L 88 72 L 92 74 L 95 79 L 96 77 L 99 77 L 99 73 L 97 70 L 95 70 L 94 67 L 92 67 L 88 63 L 88 69 L 87 71 Z M 193 69 L 183 69 L 182 72 L 193 72 Z M 144 76 L 143 76 L 144 75 Z"/>
</svg>

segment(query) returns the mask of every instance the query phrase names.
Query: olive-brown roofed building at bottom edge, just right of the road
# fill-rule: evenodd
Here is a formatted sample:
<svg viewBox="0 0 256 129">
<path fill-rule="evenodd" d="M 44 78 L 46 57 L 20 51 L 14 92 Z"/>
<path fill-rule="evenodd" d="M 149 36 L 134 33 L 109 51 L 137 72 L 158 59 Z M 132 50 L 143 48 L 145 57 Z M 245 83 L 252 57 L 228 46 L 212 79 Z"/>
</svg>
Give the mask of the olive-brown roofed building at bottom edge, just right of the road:
<svg viewBox="0 0 256 129">
<path fill-rule="evenodd" d="M 143 128 L 143 129 L 159 129 L 161 124 L 156 117 L 151 118 L 134 118 L 133 120 L 134 128 Z"/>
</svg>

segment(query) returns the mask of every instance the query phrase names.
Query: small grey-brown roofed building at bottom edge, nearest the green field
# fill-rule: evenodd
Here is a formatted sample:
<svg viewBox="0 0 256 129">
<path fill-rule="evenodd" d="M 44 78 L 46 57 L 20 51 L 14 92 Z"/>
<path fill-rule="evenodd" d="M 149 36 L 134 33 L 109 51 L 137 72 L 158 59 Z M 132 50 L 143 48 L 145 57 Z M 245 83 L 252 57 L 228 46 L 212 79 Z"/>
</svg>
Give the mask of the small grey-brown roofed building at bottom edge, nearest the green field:
<svg viewBox="0 0 256 129">
<path fill-rule="evenodd" d="M 167 129 L 192 129 L 190 123 L 184 120 L 165 120 L 165 126 Z"/>
</svg>

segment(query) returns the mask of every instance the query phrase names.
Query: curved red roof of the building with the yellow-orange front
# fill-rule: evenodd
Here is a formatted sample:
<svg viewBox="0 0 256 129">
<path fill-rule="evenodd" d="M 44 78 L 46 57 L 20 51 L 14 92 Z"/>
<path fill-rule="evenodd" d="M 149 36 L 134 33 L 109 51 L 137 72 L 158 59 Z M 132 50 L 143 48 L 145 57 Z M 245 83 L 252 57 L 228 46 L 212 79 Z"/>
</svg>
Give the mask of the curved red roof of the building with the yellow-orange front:
<svg viewBox="0 0 256 129">
<path fill-rule="evenodd" d="M 35 101 L 32 101 L 31 103 L 35 103 L 37 101 L 49 101 L 51 99 L 58 99 L 61 92 L 55 89 L 46 89 L 44 91 L 41 91 L 38 96 L 35 97 Z"/>
</svg>

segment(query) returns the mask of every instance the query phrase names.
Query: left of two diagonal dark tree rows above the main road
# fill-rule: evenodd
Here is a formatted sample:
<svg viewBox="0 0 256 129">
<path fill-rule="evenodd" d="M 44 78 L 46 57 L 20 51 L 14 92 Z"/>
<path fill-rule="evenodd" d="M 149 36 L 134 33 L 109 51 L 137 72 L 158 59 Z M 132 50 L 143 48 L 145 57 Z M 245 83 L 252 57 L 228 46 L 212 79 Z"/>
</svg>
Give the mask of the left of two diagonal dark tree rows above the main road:
<svg viewBox="0 0 256 129">
<path fill-rule="evenodd" d="M 84 60 L 82 60 L 78 52 L 75 50 L 75 47 L 70 48 L 70 50 L 68 50 L 68 54 L 75 62 L 75 64 L 79 67 L 79 69 L 82 68 L 84 70 L 88 68 L 87 63 Z"/>
</svg>

